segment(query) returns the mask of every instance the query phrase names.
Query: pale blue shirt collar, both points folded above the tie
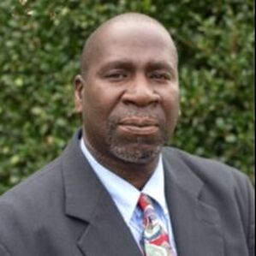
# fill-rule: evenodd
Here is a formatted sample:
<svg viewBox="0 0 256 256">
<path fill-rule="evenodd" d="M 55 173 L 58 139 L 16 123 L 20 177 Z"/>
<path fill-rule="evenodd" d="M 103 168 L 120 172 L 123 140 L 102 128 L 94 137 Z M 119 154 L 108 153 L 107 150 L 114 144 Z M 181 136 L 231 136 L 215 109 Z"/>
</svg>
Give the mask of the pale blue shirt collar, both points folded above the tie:
<svg viewBox="0 0 256 256">
<path fill-rule="evenodd" d="M 135 188 L 132 184 L 106 169 L 102 164 L 99 164 L 86 148 L 82 138 L 80 139 L 80 148 L 89 164 L 91 164 L 92 170 L 95 171 L 99 180 L 110 193 L 111 198 L 114 200 L 118 210 L 127 223 L 129 223 L 133 217 L 134 210 L 140 198 L 140 193 L 146 193 L 157 201 L 164 210 L 164 214 L 168 212 L 164 197 L 164 168 L 162 155 L 160 155 L 156 170 L 140 192 L 140 190 Z"/>
</svg>

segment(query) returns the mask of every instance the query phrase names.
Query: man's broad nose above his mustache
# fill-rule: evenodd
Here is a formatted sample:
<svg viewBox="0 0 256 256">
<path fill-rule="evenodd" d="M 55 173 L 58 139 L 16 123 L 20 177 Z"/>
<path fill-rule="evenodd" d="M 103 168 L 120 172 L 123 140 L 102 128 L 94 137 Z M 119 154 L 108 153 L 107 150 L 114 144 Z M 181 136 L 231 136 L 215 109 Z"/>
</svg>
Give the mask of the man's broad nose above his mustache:
<svg viewBox="0 0 256 256">
<path fill-rule="evenodd" d="M 135 77 L 122 95 L 122 102 L 124 104 L 134 104 L 140 107 L 158 104 L 159 101 L 160 96 L 155 92 L 154 86 L 144 75 Z"/>
</svg>

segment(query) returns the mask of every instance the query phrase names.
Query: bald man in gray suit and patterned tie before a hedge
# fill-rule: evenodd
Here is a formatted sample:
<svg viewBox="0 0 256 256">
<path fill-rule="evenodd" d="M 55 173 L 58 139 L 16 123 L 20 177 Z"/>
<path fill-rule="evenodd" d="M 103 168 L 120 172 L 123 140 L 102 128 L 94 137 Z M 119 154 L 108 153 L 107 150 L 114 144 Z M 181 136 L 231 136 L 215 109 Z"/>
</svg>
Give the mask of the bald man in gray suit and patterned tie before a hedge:
<svg viewBox="0 0 256 256">
<path fill-rule="evenodd" d="M 87 39 L 74 79 L 82 129 L 0 199 L 1 256 L 253 256 L 253 188 L 164 142 L 179 113 L 176 46 L 118 15 Z"/>
</svg>

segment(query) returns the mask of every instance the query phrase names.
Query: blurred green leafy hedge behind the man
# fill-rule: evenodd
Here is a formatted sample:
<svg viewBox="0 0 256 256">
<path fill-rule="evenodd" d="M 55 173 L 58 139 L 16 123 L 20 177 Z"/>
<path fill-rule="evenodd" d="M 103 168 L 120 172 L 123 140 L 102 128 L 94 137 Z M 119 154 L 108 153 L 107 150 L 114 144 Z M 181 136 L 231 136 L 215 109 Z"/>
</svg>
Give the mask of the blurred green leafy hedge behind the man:
<svg viewBox="0 0 256 256">
<path fill-rule="evenodd" d="M 172 145 L 253 179 L 253 1 L 0 2 L 0 194 L 63 150 L 79 118 L 74 74 L 86 37 L 128 11 L 152 15 L 180 54 L 182 116 Z"/>
</svg>

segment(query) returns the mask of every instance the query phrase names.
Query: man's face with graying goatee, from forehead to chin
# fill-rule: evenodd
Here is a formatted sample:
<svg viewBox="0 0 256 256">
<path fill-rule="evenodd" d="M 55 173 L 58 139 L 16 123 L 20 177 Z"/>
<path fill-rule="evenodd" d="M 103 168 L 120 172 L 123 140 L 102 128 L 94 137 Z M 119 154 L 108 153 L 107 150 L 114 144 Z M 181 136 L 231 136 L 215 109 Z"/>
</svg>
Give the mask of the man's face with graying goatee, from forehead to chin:
<svg viewBox="0 0 256 256">
<path fill-rule="evenodd" d="M 148 163 L 176 126 L 174 46 L 164 31 L 148 24 L 117 24 L 100 39 L 86 77 L 76 80 L 86 143 L 98 157 Z"/>
</svg>

